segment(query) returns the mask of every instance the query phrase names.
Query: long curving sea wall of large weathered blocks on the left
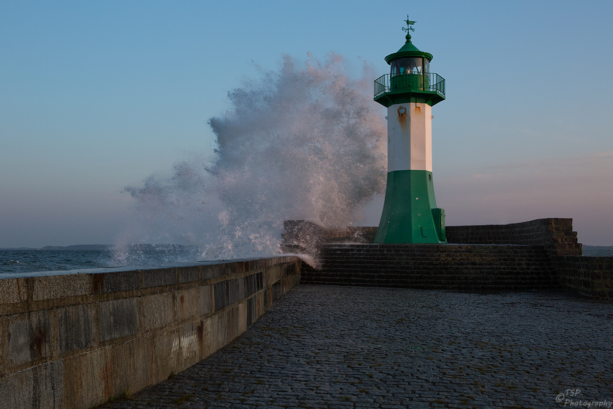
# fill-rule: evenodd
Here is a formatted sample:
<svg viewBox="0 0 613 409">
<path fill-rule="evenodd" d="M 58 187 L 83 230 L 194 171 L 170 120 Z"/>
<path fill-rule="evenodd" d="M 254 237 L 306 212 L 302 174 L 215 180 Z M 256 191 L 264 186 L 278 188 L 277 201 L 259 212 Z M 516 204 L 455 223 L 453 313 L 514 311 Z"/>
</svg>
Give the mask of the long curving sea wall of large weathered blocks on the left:
<svg viewBox="0 0 613 409">
<path fill-rule="evenodd" d="M 0 279 L 0 407 L 91 408 L 159 383 L 246 331 L 299 258 Z"/>
</svg>

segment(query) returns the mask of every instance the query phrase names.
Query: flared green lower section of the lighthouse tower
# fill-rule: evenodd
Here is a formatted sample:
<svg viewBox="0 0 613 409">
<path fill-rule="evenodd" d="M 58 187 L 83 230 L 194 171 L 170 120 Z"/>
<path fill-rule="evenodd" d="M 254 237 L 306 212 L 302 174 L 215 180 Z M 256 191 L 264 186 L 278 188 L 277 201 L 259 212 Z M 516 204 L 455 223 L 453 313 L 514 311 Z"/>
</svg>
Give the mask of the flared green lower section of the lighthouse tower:
<svg viewBox="0 0 613 409">
<path fill-rule="evenodd" d="M 375 243 L 446 243 L 444 210 L 436 207 L 432 172 L 387 172 Z"/>
</svg>

